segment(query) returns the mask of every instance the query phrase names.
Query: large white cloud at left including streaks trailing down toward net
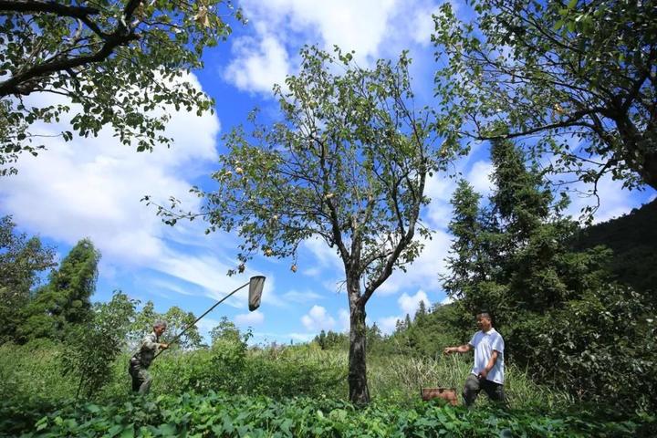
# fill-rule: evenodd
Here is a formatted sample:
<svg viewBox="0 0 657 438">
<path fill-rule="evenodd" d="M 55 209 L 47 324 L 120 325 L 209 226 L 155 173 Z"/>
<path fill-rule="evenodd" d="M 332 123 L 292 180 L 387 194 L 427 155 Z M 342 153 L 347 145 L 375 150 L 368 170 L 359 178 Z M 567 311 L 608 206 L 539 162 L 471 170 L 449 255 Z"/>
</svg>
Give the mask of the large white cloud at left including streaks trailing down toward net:
<svg viewBox="0 0 657 438">
<path fill-rule="evenodd" d="M 201 88 L 193 75 L 187 79 Z M 29 99 L 43 104 L 52 103 L 53 98 L 36 95 Z M 49 141 L 48 151 L 37 157 L 21 157 L 18 174 L 0 185 L 2 210 L 13 214 L 26 230 L 57 242 L 74 245 L 89 237 L 102 254 L 100 276 L 147 268 L 185 282 L 156 286 L 183 294 L 224 297 L 244 279 L 225 275 L 235 266 L 234 260 L 214 255 L 216 247 L 210 254 L 208 242 L 217 240 L 216 236 L 199 233 L 203 225 L 198 223 L 164 225 L 154 208 L 140 202 L 144 194 L 161 202 L 173 195 L 186 209 L 197 210 L 199 199 L 188 193 L 190 180 L 217 158 L 215 138 L 220 125 L 216 116 L 169 110 L 173 116 L 166 134 L 174 139 L 171 149 L 160 146 L 151 153 L 137 153 L 120 145 L 110 130 L 102 130 L 93 139 L 65 142 L 56 138 Z M 65 123 L 39 125 L 33 131 L 53 134 L 64 129 Z M 223 237 L 218 240 L 233 240 L 229 235 Z M 189 245 L 205 251 L 189 255 Z M 245 289 L 228 304 L 245 308 L 246 295 Z M 266 281 L 263 302 L 280 304 L 272 276 Z"/>
</svg>

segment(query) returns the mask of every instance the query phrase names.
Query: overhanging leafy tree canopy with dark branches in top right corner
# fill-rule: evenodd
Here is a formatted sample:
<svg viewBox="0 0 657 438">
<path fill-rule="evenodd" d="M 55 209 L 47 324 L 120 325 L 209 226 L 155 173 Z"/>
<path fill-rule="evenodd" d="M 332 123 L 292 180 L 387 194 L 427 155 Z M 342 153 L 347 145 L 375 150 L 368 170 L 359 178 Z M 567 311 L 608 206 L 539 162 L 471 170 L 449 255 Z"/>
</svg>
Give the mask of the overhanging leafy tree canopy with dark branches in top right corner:
<svg viewBox="0 0 657 438">
<path fill-rule="evenodd" d="M 434 16 L 437 75 L 477 140 L 526 138 L 556 172 L 657 189 L 657 7 L 616 0 L 472 2 Z M 562 180 L 568 183 L 568 178 Z M 597 186 L 594 185 L 593 192 Z"/>
</svg>

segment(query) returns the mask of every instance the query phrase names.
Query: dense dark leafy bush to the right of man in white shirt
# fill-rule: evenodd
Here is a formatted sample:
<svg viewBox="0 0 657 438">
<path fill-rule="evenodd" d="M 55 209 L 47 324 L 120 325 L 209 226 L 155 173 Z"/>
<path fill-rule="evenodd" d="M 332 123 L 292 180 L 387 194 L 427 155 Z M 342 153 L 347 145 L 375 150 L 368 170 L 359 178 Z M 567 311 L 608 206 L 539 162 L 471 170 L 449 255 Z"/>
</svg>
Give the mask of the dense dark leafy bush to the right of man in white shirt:
<svg viewBox="0 0 657 438">
<path fill-rule="evenodd" d="M 523 360 L 534 364 L 530 374 L 537 380 L 579 401 L 656 409 L 657 381 L 641 377 L 657 369 L 651 328 L 641 322 L 651 320 L 641 317 L 649 309 L 630 288 L 610 285 L 542 318 L 519 319 L 514 338 L 525 340 Z"/>
</svg>

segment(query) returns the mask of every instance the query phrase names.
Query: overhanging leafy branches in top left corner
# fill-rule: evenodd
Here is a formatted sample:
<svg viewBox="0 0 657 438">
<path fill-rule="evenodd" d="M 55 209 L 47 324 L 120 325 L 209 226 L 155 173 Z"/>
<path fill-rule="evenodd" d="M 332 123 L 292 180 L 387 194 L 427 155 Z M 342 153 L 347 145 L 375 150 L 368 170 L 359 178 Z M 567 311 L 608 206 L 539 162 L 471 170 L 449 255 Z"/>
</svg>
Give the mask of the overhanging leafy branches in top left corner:
<svg viewBox="0 0 657 438">
<path fill-rule="evenodd" d="M 230 34 L 231 16 L 244 21 L 224 0 L 0 1 L 0 171 L 43 148 L 36 122 L 69 111 L 65 140 L 110 126 L 138 151 L 169 144 L 165 105 L 212 110 L 183 73 L 203 67 L 203 48 Z M 35 94 L 66 99 L 25 99 Z"/>
</svg>

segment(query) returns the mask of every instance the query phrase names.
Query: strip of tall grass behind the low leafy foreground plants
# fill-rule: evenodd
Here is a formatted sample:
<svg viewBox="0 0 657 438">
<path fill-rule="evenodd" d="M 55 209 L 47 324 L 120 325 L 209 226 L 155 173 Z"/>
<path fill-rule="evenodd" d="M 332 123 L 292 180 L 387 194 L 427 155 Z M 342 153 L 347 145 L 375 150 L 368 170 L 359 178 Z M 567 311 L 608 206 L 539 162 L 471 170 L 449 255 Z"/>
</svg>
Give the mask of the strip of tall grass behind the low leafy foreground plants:
<svg viewBox="0 0 657 438">
<path fill-rule="evenodd" d="M 57 401 L 72 398 L 75 384 L 63 376 L 61 346 L 0 346 L 0 398 L 16 401 Z M 93 354 L 93 351 L 89 351 Z M 156 394 L 184 391 L 229 391 L 274 398 L 307 395 L 331 399 L 348 398 L 348 353 L 321 350 L 316 345 L 283 349 L 250 349 L 238 366 L 217 361 L 216 351 L 167 351 L 151 366 Z M 115 360 L 99 400 L 116 400 L 130 392 L 128 360 L 124 353 Z M 368 358 L 368 381 L 373 400 L 399 403 L 417 401 L 423 387 L 448 387 L 461 393 L 472 366 L 472 355 L 410 358 L 401 355 Z M 233 368 L 231 368 L 233 367 Z M 506 394 L 512 406 L 564 407 L 572 401 L 559 391 L 531 381 L 527 372 L 506 368 Z M 482 394 L 478 403 L 485 403 Z"/>
</svg>

